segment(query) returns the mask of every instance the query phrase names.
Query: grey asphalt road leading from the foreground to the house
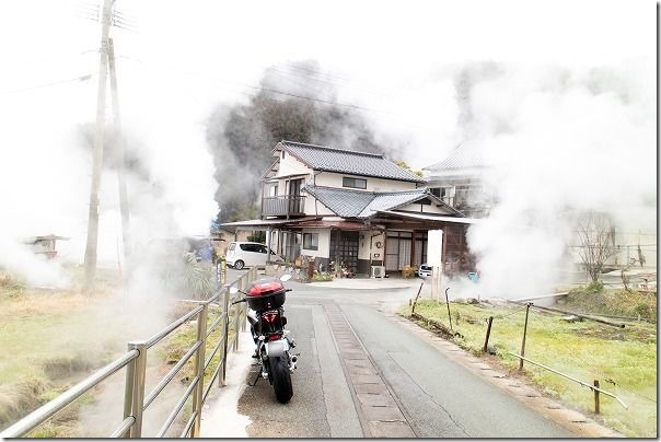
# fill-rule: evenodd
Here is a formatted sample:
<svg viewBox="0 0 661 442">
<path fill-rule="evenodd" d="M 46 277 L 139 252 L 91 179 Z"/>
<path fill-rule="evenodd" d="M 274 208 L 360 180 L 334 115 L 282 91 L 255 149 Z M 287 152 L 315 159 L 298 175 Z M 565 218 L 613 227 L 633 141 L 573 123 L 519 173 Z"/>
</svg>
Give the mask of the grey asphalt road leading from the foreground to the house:
<svg viewBox="0 0 661 442">
<path fill-rule="evenodd" d="M 570 438 L 389 313 L 408 290 L 333 290 L 289 282 L 288 328 L 300 353 L 294 396 L 260 380 L 237 411 L 252 438 Z M 255 379 L 251 367 L 245 382 Z"/>
</svg>

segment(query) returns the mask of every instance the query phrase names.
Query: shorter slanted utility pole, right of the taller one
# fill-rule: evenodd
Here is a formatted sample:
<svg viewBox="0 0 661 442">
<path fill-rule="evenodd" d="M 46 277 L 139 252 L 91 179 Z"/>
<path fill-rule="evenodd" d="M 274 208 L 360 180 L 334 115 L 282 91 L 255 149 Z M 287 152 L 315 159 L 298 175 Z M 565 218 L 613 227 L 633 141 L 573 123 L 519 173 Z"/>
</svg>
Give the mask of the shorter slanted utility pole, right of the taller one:
<svg viewBox="0 0 661 442">
<path fill-rule="evenodd" d="M 115 154 L 117 160 L 117 184 L 119 186 L 119 211 L 121 212 L 121 241 L 124 243 L 124 269 L 128 271 L 128 258 L 131 254 L 130 218 L 128 210 L 128 194 L 126 190 L 126 162 L 124 159 L 124 136 L 121 119 L 119 118 L 119 96 L 117 93 L 117 71 L 115 70 L 115 46 L 113 38 L 108 38 L 108 65 L 111 69 L 111 92 L 113 98 L 113 120 L 115 124 Z"/>
</svg>

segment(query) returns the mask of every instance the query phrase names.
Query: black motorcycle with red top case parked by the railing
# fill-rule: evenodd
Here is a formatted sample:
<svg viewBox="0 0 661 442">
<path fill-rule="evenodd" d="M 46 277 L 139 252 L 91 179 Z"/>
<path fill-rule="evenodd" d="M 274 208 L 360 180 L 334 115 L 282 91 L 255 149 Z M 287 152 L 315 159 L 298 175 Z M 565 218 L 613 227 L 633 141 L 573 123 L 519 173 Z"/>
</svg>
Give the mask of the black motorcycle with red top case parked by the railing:
<svg viewBox="0 0 661 442">
<path fill-rule="evenodd" d="M 251 282 L 247 293 L 233 287 L 230 293 L 241 292 L 245 298 L 232 302 L 248 303 L 247 319 L 251 323 L 251 333 L 255 341 L 255 353 L 260 364 L 259 373 L 252 385 L 259 377 L 268 380 L 274 386 L 276 398 L 286 404 L 293 396 L 291 385 L 291 373 L 297 368 L 298 354 L 292 354 L 291 349 L 295 342 L 289 338 L 289 330 L 285 329 L 287 317 L 285 316 L 286 289 L 282 282 L 291 279 L 291 275 L 283 275 L 280 279 L 262 278 Z"/>
</svg>

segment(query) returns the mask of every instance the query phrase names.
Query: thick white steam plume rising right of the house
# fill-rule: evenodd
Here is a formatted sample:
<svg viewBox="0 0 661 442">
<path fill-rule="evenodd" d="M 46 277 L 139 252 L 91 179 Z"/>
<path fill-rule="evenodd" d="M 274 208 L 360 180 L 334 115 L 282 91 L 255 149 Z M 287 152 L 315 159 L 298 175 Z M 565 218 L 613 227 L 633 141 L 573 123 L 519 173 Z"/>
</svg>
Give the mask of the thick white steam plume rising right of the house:
<svg viewBox="0 0 661 442">
<path fill-rule="evenodd" d="M 508 67 L 473 88 L 467 136 L 483 144 L 485 184 L 498 201 L 468 232 L 486 293 L 549 293 L 567 264 L 573 211 L 653 231 L 650 73 L 636 62 L 580 72 Z"/>
</svg>

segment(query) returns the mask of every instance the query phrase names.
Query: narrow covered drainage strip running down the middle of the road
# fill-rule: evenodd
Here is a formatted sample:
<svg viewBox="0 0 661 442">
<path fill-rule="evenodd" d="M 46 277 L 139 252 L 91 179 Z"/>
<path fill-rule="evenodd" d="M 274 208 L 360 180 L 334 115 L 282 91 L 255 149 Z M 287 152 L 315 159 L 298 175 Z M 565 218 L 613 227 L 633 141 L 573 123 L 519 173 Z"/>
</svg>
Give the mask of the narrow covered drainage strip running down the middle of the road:
<svg viewBox="0 0 661 442">
<path fill-rule="evenodd" d="M 324 309 L 350 383 L 364 435 L 415 438 L 416 433 L 339 306 L 326 304 Z"/>
</svg>

